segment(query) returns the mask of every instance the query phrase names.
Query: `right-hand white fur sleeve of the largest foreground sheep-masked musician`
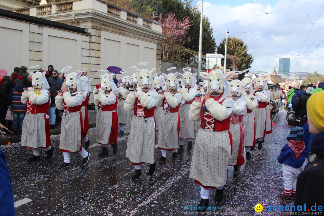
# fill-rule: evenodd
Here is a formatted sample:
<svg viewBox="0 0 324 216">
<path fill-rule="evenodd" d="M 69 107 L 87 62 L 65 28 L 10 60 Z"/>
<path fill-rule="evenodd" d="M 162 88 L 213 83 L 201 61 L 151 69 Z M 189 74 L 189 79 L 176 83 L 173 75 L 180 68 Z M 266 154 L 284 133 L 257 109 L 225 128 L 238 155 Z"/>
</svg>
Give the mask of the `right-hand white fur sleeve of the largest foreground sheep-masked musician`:
<svg viewBox="0 0 324 216">
<path fill-rule="evenodd" d="M 215 119 L 222 121 L 232 114 L 234 100 L 228 97 L 223 101 L 223 104 L 220 105 L 217 101 L 208 99 L 205 105 Z"/>
</svg>

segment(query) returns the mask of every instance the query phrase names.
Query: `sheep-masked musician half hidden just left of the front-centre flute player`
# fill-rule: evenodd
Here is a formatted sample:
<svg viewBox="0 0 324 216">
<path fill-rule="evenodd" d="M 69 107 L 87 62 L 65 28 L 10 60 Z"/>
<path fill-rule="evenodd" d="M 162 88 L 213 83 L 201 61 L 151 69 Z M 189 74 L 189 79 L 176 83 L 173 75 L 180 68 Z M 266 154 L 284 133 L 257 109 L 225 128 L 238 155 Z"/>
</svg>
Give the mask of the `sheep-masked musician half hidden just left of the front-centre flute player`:
<svg viewBox="0 0 324 216">
<path fill-rule="evenodd" d="M 131 120 L 133 118 L 133 113 L 128 112 L 124 109 L 124 103 L 127 98 L 127 94 L 125 94 L 125 89 L 126 87 L 129 88 L 130 85 L 132 85 L 132 78 L 130 76 L 124 76 L 123 78 L 121 78 L 121 85 L 118 87 L 118 91 L 116 92 L 118 97 L 118 135 L 124 135 L 124 125 L 126 125 L 127 128 L 130 128 Z M 129 131 L 130 130 L 128 130 L 127 132 Z"/>
</svg>

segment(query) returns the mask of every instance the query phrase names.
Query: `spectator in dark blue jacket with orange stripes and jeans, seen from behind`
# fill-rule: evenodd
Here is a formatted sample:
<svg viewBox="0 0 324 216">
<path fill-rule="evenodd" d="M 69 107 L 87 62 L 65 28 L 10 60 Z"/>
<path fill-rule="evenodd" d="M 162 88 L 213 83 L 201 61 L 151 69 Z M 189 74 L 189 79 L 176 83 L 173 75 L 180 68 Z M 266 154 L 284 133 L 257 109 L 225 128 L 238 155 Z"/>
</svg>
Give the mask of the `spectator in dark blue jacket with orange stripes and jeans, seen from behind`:
<svg viewBox="0 0 324 216">
<path fill-rule="evenodd" d="M 21 103 L 21 94 L 24 91 L 23 77 L 21 75 L 15 80 L 16 86 L 11 89 L 8 99 L 8 105 L 11 105 L 11 111 L 14 115 L 14 121 L 12 129 L 14 135 L 21 135 L 22 122 L 24 121 L 26 114 L 26 104 Z M 19 128 L 18 128 L 19 125 Z"/>
</svg>

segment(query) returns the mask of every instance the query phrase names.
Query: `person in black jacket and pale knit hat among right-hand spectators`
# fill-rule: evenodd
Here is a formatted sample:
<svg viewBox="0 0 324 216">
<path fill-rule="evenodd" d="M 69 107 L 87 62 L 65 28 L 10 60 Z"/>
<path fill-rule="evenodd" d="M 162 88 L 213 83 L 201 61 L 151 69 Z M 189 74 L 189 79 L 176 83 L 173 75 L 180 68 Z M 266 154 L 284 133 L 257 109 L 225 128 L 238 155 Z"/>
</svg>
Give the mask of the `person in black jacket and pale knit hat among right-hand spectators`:
<svg viewBox="0 0 324 216">
<path fill-rule="evenodd" d="M 311 96 L 310 92 L 312 90 L 314 90 L 314 88 L 309 86 L 306 89 L 305 95 L 298 97 L 297 102 L 295 104 L 294 110 L 295 110 L 295 114 L 296 114 L 296 119 L 300 119 L 299 127 L 302 127 L 307 122 L 306 105 L 307 105 L 308 98 Z"/>
</svg>

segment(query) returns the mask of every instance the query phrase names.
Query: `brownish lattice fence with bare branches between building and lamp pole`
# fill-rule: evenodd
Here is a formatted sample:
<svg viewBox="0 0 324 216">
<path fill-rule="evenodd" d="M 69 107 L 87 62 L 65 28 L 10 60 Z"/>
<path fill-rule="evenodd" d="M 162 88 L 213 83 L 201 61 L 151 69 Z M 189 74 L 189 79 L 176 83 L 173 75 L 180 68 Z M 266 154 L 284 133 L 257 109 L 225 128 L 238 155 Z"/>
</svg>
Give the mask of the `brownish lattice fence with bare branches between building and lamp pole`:
<svg viewBox="0 0 324 216">
<path fill-rule="evenodd" d="M 198 52 L 176 44 L 162 43 L 162 58 L 170 61 L 198 66 Z M 206 66 L 206 56 L 202 55 L 202 68 Z"/>
</svg>

